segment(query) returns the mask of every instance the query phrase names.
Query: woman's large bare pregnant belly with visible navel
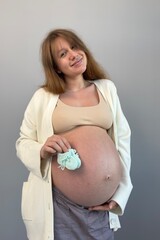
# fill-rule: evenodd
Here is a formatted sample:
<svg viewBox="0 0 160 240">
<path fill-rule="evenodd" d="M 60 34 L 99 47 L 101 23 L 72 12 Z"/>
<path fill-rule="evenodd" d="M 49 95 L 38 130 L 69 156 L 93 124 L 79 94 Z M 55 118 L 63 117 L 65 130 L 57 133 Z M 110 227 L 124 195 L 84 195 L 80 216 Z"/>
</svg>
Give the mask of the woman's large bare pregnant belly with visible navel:
<svg viewBox="0 0 160 240">
<path fill-rule="evenodd" d="M 100 205 L 116 191 L 122 176 L 117 150 L 106 130 L 81 126 L 62 134 L 82 161 L 76 170 L 58 168 L 52 161 L 52 180 L 66 197 L 83 206 Z"/>
</svg>

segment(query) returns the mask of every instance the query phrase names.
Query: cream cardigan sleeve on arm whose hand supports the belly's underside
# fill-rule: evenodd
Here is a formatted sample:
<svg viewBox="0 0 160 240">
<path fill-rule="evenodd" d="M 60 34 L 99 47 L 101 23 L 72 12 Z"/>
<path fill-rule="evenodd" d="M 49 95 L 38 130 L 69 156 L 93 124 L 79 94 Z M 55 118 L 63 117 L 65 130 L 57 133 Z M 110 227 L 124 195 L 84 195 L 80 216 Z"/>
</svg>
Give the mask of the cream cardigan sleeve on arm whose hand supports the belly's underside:
<svg viewBox="0 0 160 240">
<path fill-rule="evenodd" d="M 119 97 L 115 85 L 111 82 L 111 99 L 114 114 L 113 136 L 119 157 L 122 163 L 122 180 L 112 200 L 118 203 L 119 207 L 113 210 L 113 213 L 122 215 L 125 206 L 132 191 L 132 182 L 130 178 L 131 154 L 130 139 L 131 130 L 126 117 L 123 114 Z"/>
</svg>

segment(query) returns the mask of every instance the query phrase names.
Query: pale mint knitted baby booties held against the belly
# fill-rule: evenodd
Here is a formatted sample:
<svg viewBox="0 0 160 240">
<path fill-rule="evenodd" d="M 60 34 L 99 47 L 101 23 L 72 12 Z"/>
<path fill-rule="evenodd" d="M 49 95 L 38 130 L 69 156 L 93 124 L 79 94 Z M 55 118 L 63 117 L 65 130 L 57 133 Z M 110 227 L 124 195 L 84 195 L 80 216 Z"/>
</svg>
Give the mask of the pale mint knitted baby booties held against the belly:
<svg viewBox="0 0 160 240">
<path fill-rule="evenodd" d="M 79 158 L 76 150 L 73 148 L 70 148 L 68 152 L 58 153 L 57 162 L 62 170 L 65 168 L 75 170 L 81 166 L 81 159 Z"/>
</svg>

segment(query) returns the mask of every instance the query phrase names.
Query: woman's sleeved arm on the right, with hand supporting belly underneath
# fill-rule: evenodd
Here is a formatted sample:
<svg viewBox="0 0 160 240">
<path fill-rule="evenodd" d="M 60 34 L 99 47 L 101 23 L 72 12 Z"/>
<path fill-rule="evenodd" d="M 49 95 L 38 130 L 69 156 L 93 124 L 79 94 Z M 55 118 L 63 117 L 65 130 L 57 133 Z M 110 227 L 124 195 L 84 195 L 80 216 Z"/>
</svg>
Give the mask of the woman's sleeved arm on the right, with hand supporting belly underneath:
<svg viewBox="0 0 160 240">
<path fill-rule="evenodd" d="M 106 91 L 104 91 L 104 86 L 105 89 L 107 89 Z M 123 176 L 119 187 L 111 198 L 110 202 L 103 204 L 102 206 L 93 207 L 91 208 L 91 210 L 108 210 L 118 215 L 122 215 L 124 213 L 125 206 L 132 191 L 132 183 L 130 179 L 131 131 L 121 109 L 121 104 L 117 95 L 115 85 L 111 81 L 105 80 L 103 82 L 103 85 L 100 86 L 100 89 L 104 94 L 105 98 L 108 99 L 113 111 L 113 127 L 109 130 L 108 133 L 115 142 L 117 151 L 119 153 L 122 163 Z"/>
</svg>

